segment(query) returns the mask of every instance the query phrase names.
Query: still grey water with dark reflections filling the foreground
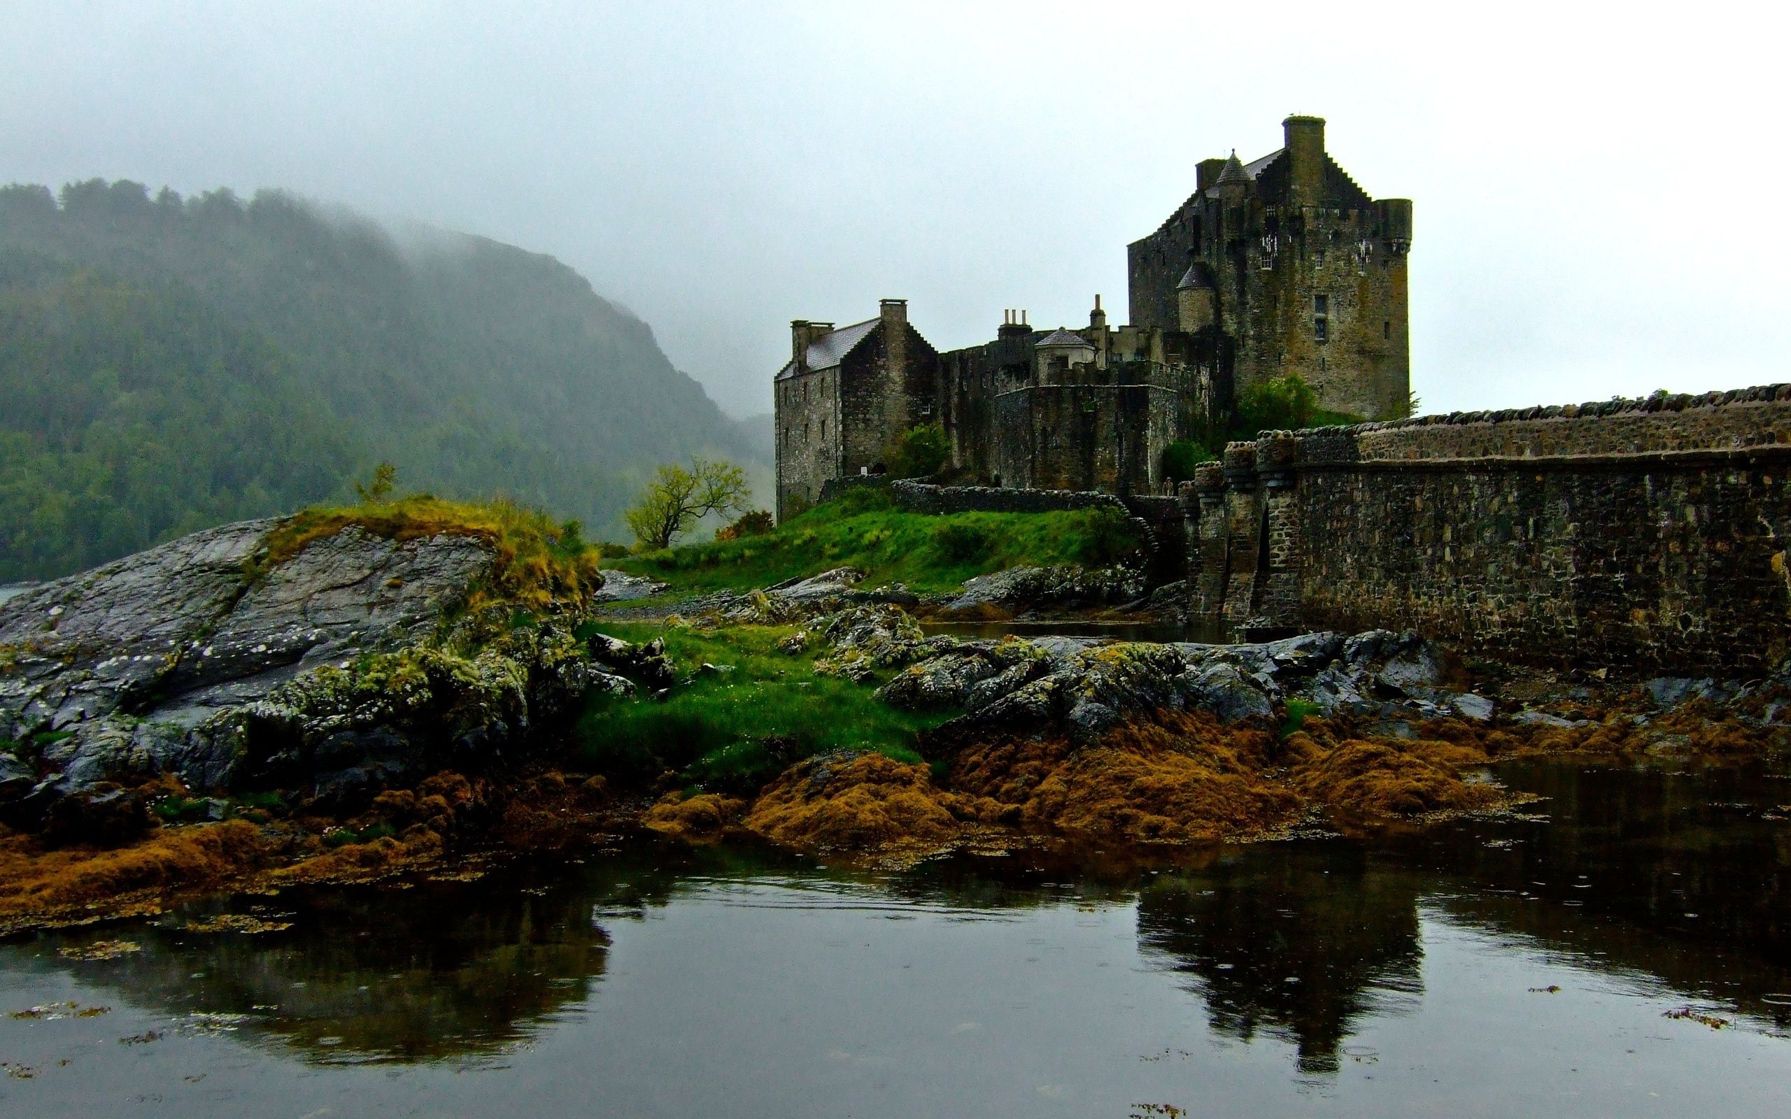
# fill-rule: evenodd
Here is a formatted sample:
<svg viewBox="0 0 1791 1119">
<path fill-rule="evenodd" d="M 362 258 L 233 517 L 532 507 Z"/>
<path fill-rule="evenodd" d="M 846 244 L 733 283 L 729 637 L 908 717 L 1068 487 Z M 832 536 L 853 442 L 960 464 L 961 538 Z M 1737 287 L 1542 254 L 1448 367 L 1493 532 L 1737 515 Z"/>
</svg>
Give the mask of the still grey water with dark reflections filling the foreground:
<svg viewBox="0 0 1791 1119">
<path fill-rule="evenodd" d="M 1791 781 L 1503 777 L 1547 799 L 1173 868 L 638 845 L 45 933 L 0 1114 L 1791 1114 Z"/>
</svg>

